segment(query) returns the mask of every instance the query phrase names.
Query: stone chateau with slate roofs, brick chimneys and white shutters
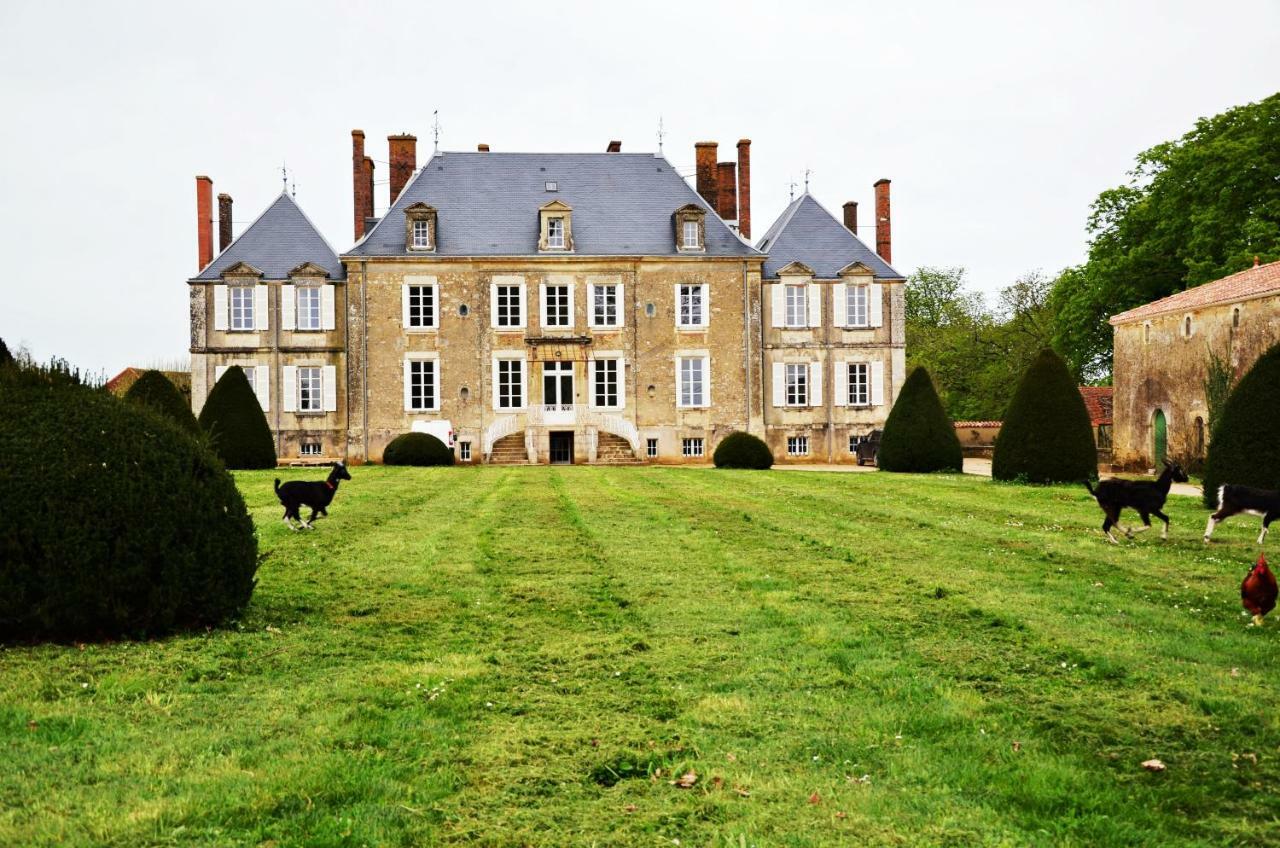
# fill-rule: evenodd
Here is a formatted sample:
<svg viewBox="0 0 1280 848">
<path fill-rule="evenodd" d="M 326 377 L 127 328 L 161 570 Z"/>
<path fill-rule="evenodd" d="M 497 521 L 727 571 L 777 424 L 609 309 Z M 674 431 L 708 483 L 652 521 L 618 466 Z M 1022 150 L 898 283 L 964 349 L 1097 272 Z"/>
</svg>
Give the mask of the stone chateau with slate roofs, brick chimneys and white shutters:
<svg viewBox="0 0 1280 848">
<path fill-rule="evenodd" d="M 192 405 L 244 369 L 282 460 L 376 461 L 447 420 L 462 462 L 707 462 L 733 430 L 780 462 L 852 462 L 904 380 L 890 183 L 876 250 L 858 206 L 808 192 L 755 245 L 751 142 L 660 154 L 436 152 L 390 136 L 389 208 L 352 131 L 355 243 L 288 193 L 237 238 L 196 178 Z"/>
</svg>

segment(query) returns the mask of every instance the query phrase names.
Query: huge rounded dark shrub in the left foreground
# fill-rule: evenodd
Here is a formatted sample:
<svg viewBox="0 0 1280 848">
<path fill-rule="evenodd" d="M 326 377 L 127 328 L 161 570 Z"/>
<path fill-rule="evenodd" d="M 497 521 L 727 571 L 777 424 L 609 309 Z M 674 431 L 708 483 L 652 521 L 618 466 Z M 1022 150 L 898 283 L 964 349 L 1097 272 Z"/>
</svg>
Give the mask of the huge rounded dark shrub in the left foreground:
<svg viewBox="0 0 1280 848">
<path fill-rule="evenodd" d="M 156 635 L 237 615 L 257 542 L 214 453 L 65 374 L 0 369 L 0 639 Z"/>
</svg>

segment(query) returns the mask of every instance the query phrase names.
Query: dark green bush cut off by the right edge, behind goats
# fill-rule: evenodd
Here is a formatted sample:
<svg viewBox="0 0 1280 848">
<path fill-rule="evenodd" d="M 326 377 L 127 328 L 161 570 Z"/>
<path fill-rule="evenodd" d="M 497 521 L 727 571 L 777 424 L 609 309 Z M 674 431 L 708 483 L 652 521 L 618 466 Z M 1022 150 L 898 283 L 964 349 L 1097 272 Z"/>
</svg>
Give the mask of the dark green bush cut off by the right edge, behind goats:
<svg viewBox="0 0 1280 848">
<path fill-rule="evenodd" d="M 1253 364 L 1226 398 L 1210 436 L 1204 505 L 1217 507 L 1217 489 L 1239 483 L 1280 489 L 1280 345 Z"/>
</svg>

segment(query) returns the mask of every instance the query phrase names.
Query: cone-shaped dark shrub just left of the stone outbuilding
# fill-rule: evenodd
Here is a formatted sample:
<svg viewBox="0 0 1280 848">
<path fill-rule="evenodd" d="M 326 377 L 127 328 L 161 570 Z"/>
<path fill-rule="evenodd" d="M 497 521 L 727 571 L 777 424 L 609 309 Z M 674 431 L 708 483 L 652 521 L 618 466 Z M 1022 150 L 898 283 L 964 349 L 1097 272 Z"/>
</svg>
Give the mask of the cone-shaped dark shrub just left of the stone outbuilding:
<svg viewBox="0 0 1280 848">
<path fill-rule="evenodd" d="M 1089 411 L 1062 357 L 1042 350 L 1014 391 L 996 436 L 997 480 L 1074 483 L 1098 475 Z"/>
</svg>

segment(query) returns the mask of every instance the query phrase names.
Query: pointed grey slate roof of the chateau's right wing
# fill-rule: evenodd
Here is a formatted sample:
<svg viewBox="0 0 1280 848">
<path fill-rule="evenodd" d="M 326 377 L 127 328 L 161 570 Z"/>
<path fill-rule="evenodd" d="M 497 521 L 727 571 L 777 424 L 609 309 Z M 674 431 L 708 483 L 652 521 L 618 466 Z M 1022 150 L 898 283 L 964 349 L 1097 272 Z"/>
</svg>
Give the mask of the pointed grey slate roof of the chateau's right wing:
<svg viewBox="0 0 1280 848">
<path fill-rule="evenodd" d="M 809 192 L 791 201 L 756 247 L 769 255 L 764 263 L 765 279 L 776 279 L 778 269 L 794 261 L 812 268 L 815 279 L 836 279 L 855 261 L 870 268 L 877 279 L 902 279 Z"/>
</svg>

